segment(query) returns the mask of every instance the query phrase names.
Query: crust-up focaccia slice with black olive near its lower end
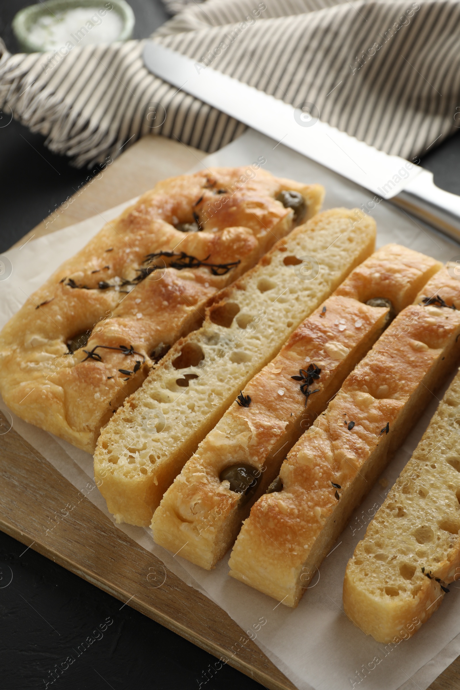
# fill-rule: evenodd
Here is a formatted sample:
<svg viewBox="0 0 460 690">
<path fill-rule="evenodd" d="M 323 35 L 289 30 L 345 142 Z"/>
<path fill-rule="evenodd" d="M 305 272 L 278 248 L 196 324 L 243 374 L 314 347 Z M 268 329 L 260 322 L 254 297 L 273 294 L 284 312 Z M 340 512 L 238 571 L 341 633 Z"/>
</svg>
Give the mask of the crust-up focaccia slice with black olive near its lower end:
<svg viewBox="0 0 460 690">
<path fill-rule="evenodd" d="M 354 268 L 250 380 L 183 467 L 154 513 L 157 544 L 214 567 L 283 457 L 388 325 L 390 308 L 394 316 L 388 297 L 399 311 L 440 268 L 395 244 Z"/>
</svg>

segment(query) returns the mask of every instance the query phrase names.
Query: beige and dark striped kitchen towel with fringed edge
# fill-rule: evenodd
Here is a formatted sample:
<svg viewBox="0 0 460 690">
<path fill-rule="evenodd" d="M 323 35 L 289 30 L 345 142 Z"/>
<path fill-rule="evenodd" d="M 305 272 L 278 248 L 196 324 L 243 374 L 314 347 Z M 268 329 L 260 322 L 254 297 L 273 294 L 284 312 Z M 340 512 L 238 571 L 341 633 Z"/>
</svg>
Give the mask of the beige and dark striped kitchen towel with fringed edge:
<svg viewBox="0 0 460 690">
<path fill-rule="evenodd" d="M 460 126 L 459 0 L 207 0 L 153 39 L 383 151 L 423 155 Z M 213 152 L 243 124 L 157 79 L 143 41 L 0 59 L 0 106 L 77 166 L 149 132 Z M 260 117 L 263 117 L 261 112 Z"/>
</svg>

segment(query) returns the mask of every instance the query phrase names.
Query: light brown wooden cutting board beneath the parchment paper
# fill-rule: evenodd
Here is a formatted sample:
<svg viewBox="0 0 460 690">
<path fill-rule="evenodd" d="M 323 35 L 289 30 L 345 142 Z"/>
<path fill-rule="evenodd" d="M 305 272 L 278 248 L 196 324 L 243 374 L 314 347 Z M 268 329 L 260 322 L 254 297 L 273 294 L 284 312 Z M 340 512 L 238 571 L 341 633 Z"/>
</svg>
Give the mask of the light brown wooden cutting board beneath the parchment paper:
<svg viewBox="0 0 460 690">
<path fill-rule="evenodd" d="M 30 230 L 17 246 L 32 237 L 103 213 L 152 188 L 161 179 L 190 170 L 206 155 L 170 139 L 144 137 L 52 216 Z M 1 423 L 8 424 L 4 417 Z M 159 559 L 117 529 L 14 429 L 0 435 L 0 495 L 3 532 L 123 604 L 129 602 L 133 609 L 217 658 L 228 659 L 230 665 L 266 688 L 295 690 L 225 611 L 182 582 Z M 48 524 L 48 516 L 67 504 L 74 509 L 46 535 L 43 525 Z M 240 638 L 246 643 L 235 647 Z M 430 689 L 460 690 L 460 657 L 441 673 Z"/>
</svg>

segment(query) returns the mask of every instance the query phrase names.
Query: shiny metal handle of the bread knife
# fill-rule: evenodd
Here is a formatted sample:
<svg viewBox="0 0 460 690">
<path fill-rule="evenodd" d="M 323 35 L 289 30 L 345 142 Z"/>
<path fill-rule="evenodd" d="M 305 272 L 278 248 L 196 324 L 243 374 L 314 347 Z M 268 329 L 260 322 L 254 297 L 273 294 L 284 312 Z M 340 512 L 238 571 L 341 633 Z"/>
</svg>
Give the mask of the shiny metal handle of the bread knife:
<svg viewBox="0 0 460 690">
<path fill-rule="evenodd" d="M 437 187 L 429 170 L 422 169 L 388 201 L 460 242 L 460 197 Z"/>
</svg>

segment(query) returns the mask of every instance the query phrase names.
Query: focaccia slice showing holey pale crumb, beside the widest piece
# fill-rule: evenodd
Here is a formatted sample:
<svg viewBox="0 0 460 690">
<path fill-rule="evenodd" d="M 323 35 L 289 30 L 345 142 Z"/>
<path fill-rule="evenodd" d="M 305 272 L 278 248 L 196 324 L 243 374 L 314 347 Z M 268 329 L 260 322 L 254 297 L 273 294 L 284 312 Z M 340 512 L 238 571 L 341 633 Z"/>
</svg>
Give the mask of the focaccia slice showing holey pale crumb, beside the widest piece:
<svg viewBox="0 0 460 690">
<path fill-rule="evenodd" d="M 163 493 L 248 380 L 372 253 L 357 210 L 315 216 L 217 295 L 199 331 L 171 348 L 99 437 L 94 474 L 119 521 L 148 525 Z"/>
</svg>

